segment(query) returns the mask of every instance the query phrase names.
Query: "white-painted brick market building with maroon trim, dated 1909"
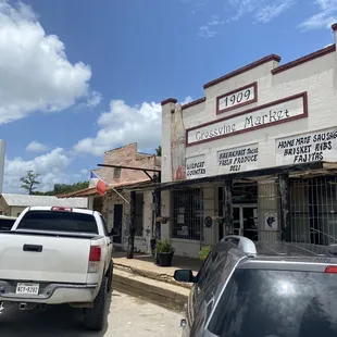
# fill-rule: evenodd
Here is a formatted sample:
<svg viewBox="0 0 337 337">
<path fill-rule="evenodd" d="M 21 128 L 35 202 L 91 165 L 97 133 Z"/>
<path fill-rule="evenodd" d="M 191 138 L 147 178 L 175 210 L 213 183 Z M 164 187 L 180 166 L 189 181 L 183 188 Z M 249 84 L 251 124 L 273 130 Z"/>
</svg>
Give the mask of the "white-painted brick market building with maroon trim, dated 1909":
<svg viewBox="0 0 337 337">
<path fill-rule="evenodd" d="M 162 102 L 162 237 L 177 254 L 227 233 L 336 241 L 336 45 L 279 63 L 272 54 L 194 102 Z"/>
</svg>

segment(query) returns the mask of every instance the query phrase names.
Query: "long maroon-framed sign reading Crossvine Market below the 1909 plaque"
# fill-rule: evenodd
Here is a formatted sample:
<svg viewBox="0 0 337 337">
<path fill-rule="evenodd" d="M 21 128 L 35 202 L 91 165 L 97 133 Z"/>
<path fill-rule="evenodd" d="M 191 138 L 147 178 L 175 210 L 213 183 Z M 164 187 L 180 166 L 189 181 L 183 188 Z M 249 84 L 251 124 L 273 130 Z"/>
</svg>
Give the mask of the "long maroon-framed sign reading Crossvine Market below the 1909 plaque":
<svg viewBox="0 0 337 337">
<path fill-rule="evenodd" d="M 186 145 L 194 146 L 307 116 L 307 92 L 302 92 L 225 118 L 188 128 L 186 130 Z"/>
</svg>

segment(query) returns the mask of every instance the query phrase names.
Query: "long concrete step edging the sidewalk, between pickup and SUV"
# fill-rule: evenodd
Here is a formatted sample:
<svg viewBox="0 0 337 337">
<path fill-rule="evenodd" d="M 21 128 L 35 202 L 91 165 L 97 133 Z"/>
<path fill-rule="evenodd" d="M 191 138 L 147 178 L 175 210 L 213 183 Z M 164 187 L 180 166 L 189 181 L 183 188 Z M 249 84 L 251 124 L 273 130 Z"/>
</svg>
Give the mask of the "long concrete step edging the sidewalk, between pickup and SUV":
<svg viewBox="0 0 337 337">
<path fill-rule="evenodd" d="M 166 282 L 145 277 L 114 266 L 113 287 L 117 290 L 137 294 L 171 307 L 183 309 L 187 303 L 189 289 Z"/>
</svg>

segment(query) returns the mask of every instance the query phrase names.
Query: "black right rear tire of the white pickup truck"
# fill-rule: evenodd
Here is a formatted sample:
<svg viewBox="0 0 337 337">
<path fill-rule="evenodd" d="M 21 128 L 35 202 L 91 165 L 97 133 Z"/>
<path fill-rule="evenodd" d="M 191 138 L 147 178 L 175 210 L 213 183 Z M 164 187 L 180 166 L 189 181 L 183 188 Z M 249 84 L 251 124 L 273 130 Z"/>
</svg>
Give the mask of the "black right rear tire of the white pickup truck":
<svg viewBox="0 0 337 337">
<path fill-rule="evenodd" d="M 100 332 L 104 327 L 107 287 L 107 277 L 103 277 L 100 290 L 93 301 L 93 307 L 86 308 L 84 311 L 84 324 L 87 330 Z"/>
</svg>

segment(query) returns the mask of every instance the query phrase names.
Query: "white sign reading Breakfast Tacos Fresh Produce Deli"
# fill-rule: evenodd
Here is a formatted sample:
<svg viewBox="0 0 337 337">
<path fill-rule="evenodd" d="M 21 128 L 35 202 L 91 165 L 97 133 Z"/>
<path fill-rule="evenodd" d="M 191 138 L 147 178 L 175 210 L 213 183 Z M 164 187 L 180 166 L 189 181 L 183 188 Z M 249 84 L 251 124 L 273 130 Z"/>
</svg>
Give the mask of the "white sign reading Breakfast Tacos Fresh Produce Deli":
<svg viewBox="0 0 337 337">
<path fill-rule="evenodd" d="M 217 170 L 220 174 L 257 168 L 259 168 L 258 143 L 217 152 Z"/>
</svg>

